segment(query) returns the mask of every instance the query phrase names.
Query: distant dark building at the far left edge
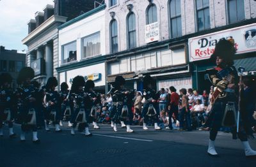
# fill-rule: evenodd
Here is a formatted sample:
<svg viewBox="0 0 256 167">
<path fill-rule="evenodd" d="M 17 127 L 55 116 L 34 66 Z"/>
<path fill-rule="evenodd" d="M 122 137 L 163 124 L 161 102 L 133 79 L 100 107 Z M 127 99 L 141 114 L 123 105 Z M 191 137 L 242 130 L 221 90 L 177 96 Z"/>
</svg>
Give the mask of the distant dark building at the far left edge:
<svg viewBox="0 0 256 167">
<path fill-rule="evenodd" d="M 0 46 L 0 74 L 10 73 L 13 78 L 12 87 L 17 87 L 17 76 L 26 65 L 26 54 L 19 54 L 17 50 L 6 50 Z"/>
</svg>

